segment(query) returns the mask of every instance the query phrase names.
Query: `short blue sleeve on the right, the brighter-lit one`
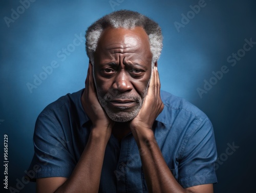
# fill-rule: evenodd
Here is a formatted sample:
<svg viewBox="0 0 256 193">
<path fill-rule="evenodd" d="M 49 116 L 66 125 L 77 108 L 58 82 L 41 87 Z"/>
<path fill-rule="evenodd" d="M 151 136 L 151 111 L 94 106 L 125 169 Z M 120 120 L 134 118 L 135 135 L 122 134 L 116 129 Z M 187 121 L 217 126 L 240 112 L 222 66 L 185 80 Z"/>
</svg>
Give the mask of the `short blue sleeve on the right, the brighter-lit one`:
<svg viewBox="0 0 256 193">
<path fill-rule="evenodd" d="M 185 138 L 179 164 L 179 183 L 183 188 L 217 183 L 217 150 L 214 130 L 208 118 Z"/>
</svg>

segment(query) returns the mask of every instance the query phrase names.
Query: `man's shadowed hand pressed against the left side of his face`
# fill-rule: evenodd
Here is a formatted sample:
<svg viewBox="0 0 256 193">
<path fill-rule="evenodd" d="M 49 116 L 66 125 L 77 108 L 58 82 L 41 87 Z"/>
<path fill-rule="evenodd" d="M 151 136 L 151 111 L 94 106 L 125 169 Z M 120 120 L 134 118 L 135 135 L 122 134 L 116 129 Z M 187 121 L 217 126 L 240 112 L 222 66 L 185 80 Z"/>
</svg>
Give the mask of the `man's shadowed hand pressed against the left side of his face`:
<svg viewBox="0 0 256 193">
<path fill-rule="evenodd" d="M 91 119 L 93 128 L 95 130 L 100 130 L 99 132 L 106 131 L 106 134 L 110 137 L 114 121 L 112 121 L 108 115 L 106 115 L 98 101 L 92 68 L 92 64 L 89 63 L 86 78 L 86 89 L 84 89 L 82 94 L 83 109 Z"/>
</svg>

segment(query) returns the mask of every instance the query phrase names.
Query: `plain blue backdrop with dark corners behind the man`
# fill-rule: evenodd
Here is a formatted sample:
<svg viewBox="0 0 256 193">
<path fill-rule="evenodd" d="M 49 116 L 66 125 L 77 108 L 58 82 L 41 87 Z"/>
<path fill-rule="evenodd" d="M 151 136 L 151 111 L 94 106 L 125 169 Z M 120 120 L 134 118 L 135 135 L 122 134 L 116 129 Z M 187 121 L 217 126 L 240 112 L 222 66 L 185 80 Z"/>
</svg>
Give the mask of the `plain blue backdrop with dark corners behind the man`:
<svg viewBox="0 0 256 193">
<path fill-rule="evenodd" d="M 37 0 L 8 27 L 4 17 L 11 18 L 12 9 L 23 10 L 18 8 L 18 1 L 1 1 L 0 144 L 7 134 L 9 187 L 17 188 L 17 181 L 22 180 L 32 159 L 38 114 L 58 97 L 84 87 L 88 58 L 84 42 L 70 46 L 75 34 L 83 36 L 87 27 L 104 14 L 131 9 L 153 18 L 162 27 L 164 47 L 158 62 L 162 90 L 198 106 L 214 125 L 221 161 L 216 170 L 219 183 L 214 186 L 215 192 L 254 189 L 256 46 L 236 66 L 232 67 L 227 57 L 243 49 L 244 39 L 256 41 L 256 3 L 206 0 L 206 6 L 178 32 L 174 23 L 181 23 L 181 14 L 186 15 L 189 6 L 199 1 L 114 2 L 120 3 L 113 7 L 108 0 Z M 74 50 L 65 59 L 58 57 L 57 53 L 67 47 Z M 39 76 L 44 72 L 42 67 L 50 66 L 53 60 L 58 67 L 30 92 L 27 83 L 34 84 L 34 75 Z M 200 97 L 197 89 L 203 89 L 204 80 L 209 81 L 212 71 L 220 71 L 224 65 L 228 73 Z M 228 143 L 239 148 L 227 156 Z M 0 171 L 4 171 L 3 166 Z M 20 192 L 35 192 L 32 182 L 19 188 Z"/>
</svg>

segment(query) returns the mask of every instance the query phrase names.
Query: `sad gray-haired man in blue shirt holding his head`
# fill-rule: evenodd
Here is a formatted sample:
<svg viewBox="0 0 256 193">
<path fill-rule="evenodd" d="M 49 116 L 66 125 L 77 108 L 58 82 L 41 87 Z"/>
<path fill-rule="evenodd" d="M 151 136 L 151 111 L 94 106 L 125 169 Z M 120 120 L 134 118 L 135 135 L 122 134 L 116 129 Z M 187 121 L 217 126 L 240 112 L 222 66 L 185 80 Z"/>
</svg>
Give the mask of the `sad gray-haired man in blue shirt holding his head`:
<svg viewBox="0 0 256 193">
<path fill-rule="evenodd" d="M 212 125 L 160 92 L 161 29 L 133 11 L 86 33 L 86 88 L 48 105 L 34 133 L 37 192 L 213 192 Z"/>
</svg>

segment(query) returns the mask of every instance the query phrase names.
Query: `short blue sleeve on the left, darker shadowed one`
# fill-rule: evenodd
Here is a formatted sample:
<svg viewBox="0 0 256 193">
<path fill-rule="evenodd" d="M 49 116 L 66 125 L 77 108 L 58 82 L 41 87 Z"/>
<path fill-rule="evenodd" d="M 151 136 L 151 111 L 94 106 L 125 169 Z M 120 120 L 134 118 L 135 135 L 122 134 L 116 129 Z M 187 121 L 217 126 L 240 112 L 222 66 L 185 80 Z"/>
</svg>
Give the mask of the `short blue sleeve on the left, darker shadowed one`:
<svg viewBox="0 0 256 193">
<path fill-rule="evenodd" d="M 35 124 L 34 156 L 29 167 L 30 179 L 47 177 L 68 178 L 75 167 L 74 157 L 68 151 L 68 141 L 61 123 L 53 112 L 41 113 Z M 33 175 L 31 175 L 33 174 Z"/>
</svg>

